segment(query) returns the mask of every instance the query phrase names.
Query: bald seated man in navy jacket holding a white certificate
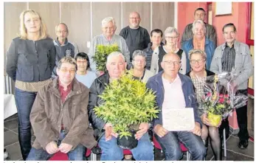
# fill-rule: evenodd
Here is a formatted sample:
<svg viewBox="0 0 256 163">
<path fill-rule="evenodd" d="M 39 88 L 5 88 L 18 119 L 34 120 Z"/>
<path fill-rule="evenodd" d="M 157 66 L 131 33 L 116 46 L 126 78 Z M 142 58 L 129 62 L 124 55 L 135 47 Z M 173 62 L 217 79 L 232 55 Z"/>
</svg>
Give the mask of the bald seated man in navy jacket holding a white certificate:
<svg viewBox="0 0 256 163">
<path fill-rule="evenodd" d="M 160 112 L 159 118 L 154 120 L 153 131 L 165 151 L 165 160 L 181 159 L 179 142 L 187 147 L 192 155 L 192 160 L 204 160 L 206 148 L 200 137 L 202 125 L 197 114 L 193 83 L 189 77 L 178 73 L 181 66 L 178 55 L 168 53 L 163 57 L 161 66 L 164 70 L 151 77 L 147 87 L 156 91 L 156 103 Z M 195 128 L 192 131 L 167 131 L 162 125 L 162 110 L 167 108 L 193 108 Z"/>
</svg>

